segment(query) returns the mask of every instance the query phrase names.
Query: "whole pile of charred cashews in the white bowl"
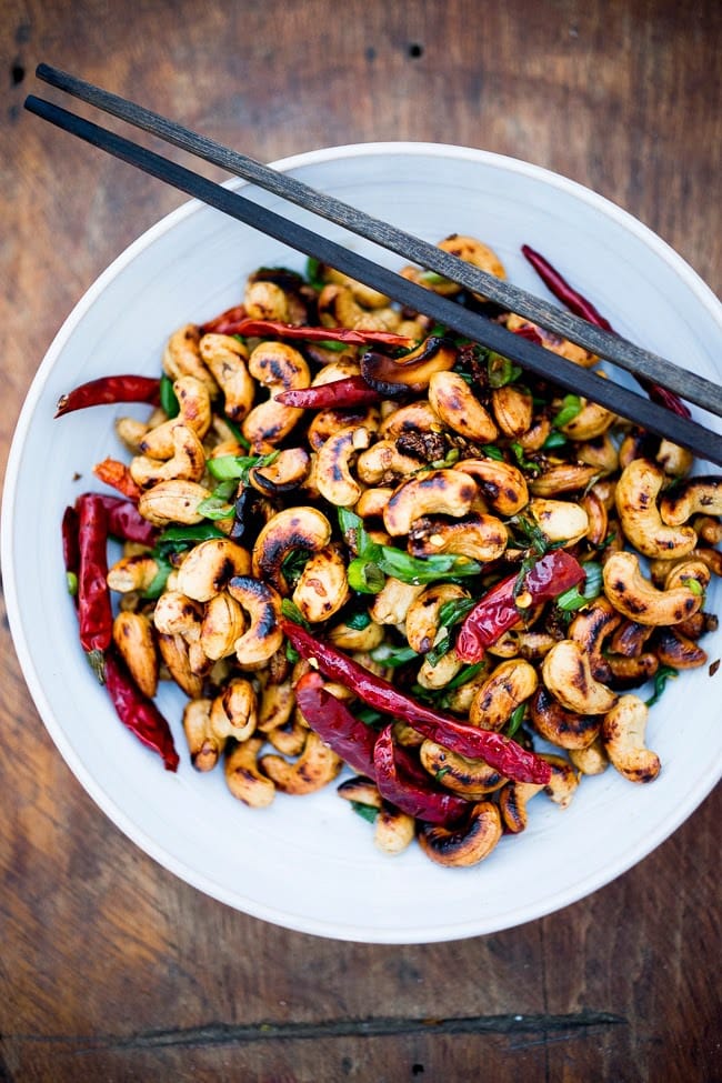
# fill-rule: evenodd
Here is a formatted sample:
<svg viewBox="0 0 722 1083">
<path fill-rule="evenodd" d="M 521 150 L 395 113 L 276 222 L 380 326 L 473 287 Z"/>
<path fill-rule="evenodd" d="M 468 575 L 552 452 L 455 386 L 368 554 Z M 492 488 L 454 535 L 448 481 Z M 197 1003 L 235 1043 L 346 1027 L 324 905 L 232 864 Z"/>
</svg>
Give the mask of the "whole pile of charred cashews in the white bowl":
<svg viewBox="0 0 722 1083">
<path fill-rule="evenodd" d="M 454 234 L 441 247 L 504 277 L 497 255 L 474 238 Z M 402 273 L 428 289 L 459 292 L 419 269 Z M 331 269 L 322 269 L 322 279 L 313 290 L 300 275 L 259 271 L 245 285 L 243 309 L 255 319 L 382 329 L 421 343 L 429 338 L 423 315 L 399 311 Z M 498 318 L 511 329 L 525 322 Z M 546 344 L 604 377 L 599 360 L 579 347 Z M 661 666 L 708 663 L 700 640 L 716 626 L 703 602 L 711 576 L 722 574 L 715 548 L 722 479 L 693 475 L 686 451 L 591 401 L 582 400 L 556 430 L 563 442 L 548 445 L 561 392 L 540 402 L 523 377 L 501 387 L 471 382 L 460 371 L 459 351 L 448 345 L 410 367 L 413 382 L 400 398 L 314 411 L 277 401 L 283 390 L 358 375 L 364 349 L 241 341 L 194 324 L 171 335 L 162 367 L 173 381 L 178 415 L 156 409 L 146 421 L 117 421 L 141 490 L 141 514 L 159 528 L 197 524 L 215 484 L 210 460 L 278 455 L 251 469 L 235 494 L 252 502 L 253 537 L 239 535 L 233 518 L 217 522 L 223 537 L 182 553 L 158 599 L 147 598 L 158 573 L 153 553 L 126 544 L 108 575 L 119 595 L 113 638 L 146 694 L 156 694 L 159 680 L 182 690 L 193 766 L 205 772 L 222 764 L 230 793 L 252 808 L 268 806 L 279 791 L 315 792 L 344 768 L 295 705 L 293 688 L 309 662 L 287 650 L 280 629 L 285 599 L 319 635 L 371 672 L 394 680 L 403 673 L 425 693 L 443 694 L 444 709 L 471 725 L 503 731 L 523 708 L 521 739 L 537 740 L 538 750 L 542 743 L 552 766 L 548 786 L 510 782 L 482 761 L 395 725 L 395 740 L 418 749 L 432 779 L 469 799 L 472 810 L 485 810 L 483 823 L 472 815 L 453 831 L 423 832 L 422 849 L 432 860 L 469 865 L 503 834 L 523 831 L 529 801 L 542 790 L 565 808 L 584 775 L 610 764 L 633 782 L 658 775 L 659 756 L 645 745 L 642 685 Z M 424 458 L 424 449 L 433 458 Z M 347 575 L 354 553 L 339 533 L 340 508 L 361 517 L 374 541 L 415 558 L 465 555 L 483 572 L 478 582 L 427 585 L 387 578 L 378 593 L 357 594 Z M 459 683 L 463 663 L 453 645 L 433 663 L 424 656 L 442 639 L 440 611 L 450 601 L 481 596 L 500 566 L 508 573 L 519 563 L 524 553 L 513 528 L 520 517 L 550 545 L 601 563 L 603 591 L 566 622 L 558 613 L 550 619 L 550 606 L 520 609 L 518 625 Z M 290 579 L 294 553 L 304 562 Z M 370 619 L 350 620 L 360 610 Z M 418 659 L 401 673 L 389 670 L 384 645 L 410 648 Z M 327 688 L 351 706 L 357 702 L 353 690 Z M 419 824 L 383 801 L 372 781 L 350 778 L 338 789 L 377 810 L 374 836 L 384 852 L 421 841 Z"/>
</svg>

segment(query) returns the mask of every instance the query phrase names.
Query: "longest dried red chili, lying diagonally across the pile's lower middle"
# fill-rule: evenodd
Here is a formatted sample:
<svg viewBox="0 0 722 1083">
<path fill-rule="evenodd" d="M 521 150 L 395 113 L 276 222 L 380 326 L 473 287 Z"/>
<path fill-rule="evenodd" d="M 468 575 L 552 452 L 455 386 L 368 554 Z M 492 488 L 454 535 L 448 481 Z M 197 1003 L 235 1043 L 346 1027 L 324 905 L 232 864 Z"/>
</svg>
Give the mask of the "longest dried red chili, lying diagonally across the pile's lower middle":
<svg viewBox="0 0 722 1083">
<path fill-rule="evenodd" d="M 283 632 L 299 654 L 315 659 L 318 668 L 331 680 L 340 681 L 355 692 L 369 706 L 403 719 L 417 732 L 443 744 L 452 752 L 460 752 L 474 760 L 484 760 L 507 779 L 515 782 L 537 782 L 546 785 L 551 769 L 533 752 L 522 749 L 515 741 L 490 730 L 479 730 L 442 714 L 422 703 L 417 703 L 383 678 L 375 676 L 341 651 L 289 620 L 282 622 Z"/>
</svg>

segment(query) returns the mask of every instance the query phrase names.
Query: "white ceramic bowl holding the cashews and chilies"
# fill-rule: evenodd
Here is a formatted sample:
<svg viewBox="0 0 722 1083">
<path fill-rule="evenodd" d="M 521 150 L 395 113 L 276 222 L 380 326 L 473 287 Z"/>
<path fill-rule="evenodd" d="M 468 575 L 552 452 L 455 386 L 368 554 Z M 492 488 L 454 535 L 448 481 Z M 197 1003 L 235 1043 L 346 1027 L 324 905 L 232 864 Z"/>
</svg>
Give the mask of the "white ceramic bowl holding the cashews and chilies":
<svg viewBox="0 0 722 1083">
<path fill-rule="evenodd" d="M 514 282 L 540 292 L 520 254 L 528 242 L 620 333 L 720 379 L 722 307 L 711 291 L 658 237 L 569 180 L 478 150 L 421 143 L 321 150 L 278 166 L 427 240 L 453 231 L 480 237 Z M 274 197 L 253 198 L 285 210 Z M 291 213 L 318 228 L 311 215 Z M 12 445 L 2 514 L 8 613 L 37 708 L 71 770 L 130 839 L 201 891 L 260 919 L 343 940 L 412 943 L 490 933 L 565 906 L 640 861 L 719 779 L 722 704 L 706 668 L 672 682 L 652 713 L 649 742 L 663 763 L 653 784 L 633 785 L 610 770 L 584 780 L 564 812 L 540 800 L 523 835 L 467 871 L 443 870 L 417 846 L 381 855 L 369 824 L 333 786 L 302 799 L 281 795 L 264 811 L 244 808 L 220 772 L 199 775 L 190 766 L 183 700 L 168 688 L 161 706 L 182 763 L 177 774 L 163 771 L 92 679 L 64 589 L 60 520 L 79 492 L 98 488 L 92 464 L 119 454 L 119 410 L 53 421 L 58 398 L 108 373 L 158 374 L 169 333 L 238 303 L 247 273 L 261 264 L 301 269 L 304 260 L 188 203 L 98 279 L 38 371 Z M 718 602 L 715 588 L 708 608 Z M 714 659 L 720 636 L 705 646 Z"/>
</svg>

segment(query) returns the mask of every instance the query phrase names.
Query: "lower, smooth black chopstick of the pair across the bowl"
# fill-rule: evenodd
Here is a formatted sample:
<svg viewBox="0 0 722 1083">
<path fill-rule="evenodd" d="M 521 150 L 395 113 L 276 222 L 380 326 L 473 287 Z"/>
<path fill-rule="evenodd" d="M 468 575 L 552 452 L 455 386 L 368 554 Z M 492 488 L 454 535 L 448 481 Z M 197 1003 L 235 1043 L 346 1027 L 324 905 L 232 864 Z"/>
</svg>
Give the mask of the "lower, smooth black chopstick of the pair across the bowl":
<svg viewBox="0 0 722 1083">
<path fill-rule="evenodd" d="M 504 327 L 374 263 L 320 233 L 285 219 L 238 192 L 180 166 L 114 132 L 100 128 L 51 102 L 30 96 L 26 109 L 137 169 L 141 169 L 231 218 L 279 240 L 305 255 L 337 268 L 402 304 L 423 312 L 472 341 L 517 361 L 523 368 L 612 410 L 660 437 L 722 465 L 722 437 L 682 418 L 590 370 L 552 354 Z M 552 367 L 553 365 L 553 367 Z"/>
</svg>

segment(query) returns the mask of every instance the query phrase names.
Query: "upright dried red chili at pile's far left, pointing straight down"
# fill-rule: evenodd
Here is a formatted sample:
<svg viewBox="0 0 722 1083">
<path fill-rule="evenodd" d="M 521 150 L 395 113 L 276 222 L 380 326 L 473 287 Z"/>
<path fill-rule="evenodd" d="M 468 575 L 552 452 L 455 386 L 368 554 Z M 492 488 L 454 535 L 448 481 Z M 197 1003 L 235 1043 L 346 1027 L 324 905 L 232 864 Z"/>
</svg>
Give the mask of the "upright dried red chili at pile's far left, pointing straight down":
<svg viewBox="0 0 722 1083">
<path fill-rule="evenodd" d="M 78 621 L 80 643 L 99 679 L 112 639 L 113 614 L 108 588 L 108 515 L 96 493 L 83 493 L 78 512 Z"/>
</svg>

